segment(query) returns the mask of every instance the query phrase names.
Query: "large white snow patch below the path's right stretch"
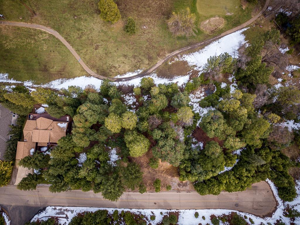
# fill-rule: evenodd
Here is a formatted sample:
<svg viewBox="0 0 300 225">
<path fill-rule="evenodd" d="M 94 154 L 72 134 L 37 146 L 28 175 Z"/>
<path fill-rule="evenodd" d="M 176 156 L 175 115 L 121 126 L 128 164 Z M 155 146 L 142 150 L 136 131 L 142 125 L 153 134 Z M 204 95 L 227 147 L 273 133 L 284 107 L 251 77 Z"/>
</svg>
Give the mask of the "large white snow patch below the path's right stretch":
<svg viewBox="0 0 300 225">
<path fill-rule="evenodd" d="M 201 71 L 210 56 L 218 56 L 227 52 L 232 57 L 238 57 L 238 55 L 236 55 L 236 49 L 240 43 L 246 43 L 243 32 L 247 29 L 248 28 L 244 28 L 232 34 L 226 35 L 223 38 L 208 44 L 197 52 L 183 55 L 182 59 L 186 60 L 189 65 L 196 65 L 197 69 Z"/>
</svg>

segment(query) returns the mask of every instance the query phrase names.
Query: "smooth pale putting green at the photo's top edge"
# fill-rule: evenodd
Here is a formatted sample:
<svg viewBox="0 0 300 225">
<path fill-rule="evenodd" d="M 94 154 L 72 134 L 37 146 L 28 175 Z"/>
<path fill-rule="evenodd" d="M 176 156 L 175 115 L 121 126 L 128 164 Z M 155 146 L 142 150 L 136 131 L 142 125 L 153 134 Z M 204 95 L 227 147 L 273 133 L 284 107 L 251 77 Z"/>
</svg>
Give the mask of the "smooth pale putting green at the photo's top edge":
<svg viewBox="0 0 300 225">
<path fill-rule="evenodd" d="M 240 0 L 197 0 L 199 14 L 205 16 L 237 13 L 241 9 Z"/>
</svg>

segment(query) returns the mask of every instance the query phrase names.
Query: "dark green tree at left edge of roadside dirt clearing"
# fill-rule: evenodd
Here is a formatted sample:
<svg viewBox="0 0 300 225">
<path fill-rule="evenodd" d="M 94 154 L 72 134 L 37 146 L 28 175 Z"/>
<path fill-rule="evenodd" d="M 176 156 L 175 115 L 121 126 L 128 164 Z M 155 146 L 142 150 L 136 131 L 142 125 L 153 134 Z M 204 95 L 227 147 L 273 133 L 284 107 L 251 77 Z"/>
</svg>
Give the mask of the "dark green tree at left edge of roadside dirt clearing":
<svg viewBox="0 0 300 225">
<path fill-rule="evenodd" d="M 126 187 L 134 191 L 143 182 L 140 166 L 136 163 L 128 163 L 122 170 L 122 180 Z"/>
</svg>

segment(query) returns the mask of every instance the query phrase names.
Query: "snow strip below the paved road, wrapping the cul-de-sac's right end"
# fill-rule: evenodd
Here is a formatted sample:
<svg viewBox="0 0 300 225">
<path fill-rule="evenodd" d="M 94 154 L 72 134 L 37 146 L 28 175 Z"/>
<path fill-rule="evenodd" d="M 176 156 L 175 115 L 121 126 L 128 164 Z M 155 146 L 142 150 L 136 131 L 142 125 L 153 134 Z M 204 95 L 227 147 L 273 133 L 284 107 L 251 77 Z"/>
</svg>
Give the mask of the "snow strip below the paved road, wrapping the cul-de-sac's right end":
<svg viewBox="0 0 300 225">
<path fill-rule="evenodd" d="M 197 210 L 186 209 L 186 210 L 178 210 L 178 212 L 179 212 L 178 224 L 179 225 L 198 225 L 199 223 L 212 224 L 210 221 L 210 215 L 222 216 L 223 214 L 228 215 L 232 212 L 236 212 L 239 215 L 241 215 L 242 217 L 246 216 L 247 217 L 246 220 L 249 222 L 249 224 L 251 224 L 249 218 L 251 218 L 254 221 L 255 225 L 259 225 L 260 223 L 274 224 L 277 220 L 282 220 L 286 224 L 290 224 L 290 219 L 287 217 L 284 217 L 283 212 L 284 212 L 284 208 L 286 207 L 287 204 L 289 204 L 290 206 L 294 206 L 295 209 L 300 211 L 300 182 L 297 181 L 297 184 L 296 184 L 296 190 L 297 190 L 298 195 L 295 198 L 295 200 L 292 202 L 285 202 L 285 203 L 283 203 L 283 201 L 279 198 L 278 191 L 277 191 L 277 188 L 275 187 L 274 183 L 272 181 L 270 181 L 269 179 L 267 179 L 266 182 L 268 182 L 268 184 L 270 185 L 270 187 L 274 193 L 274 196 L 278 202 L 278 207 L 277 207 L 276 211 L 273 213 L 272 217 L 260 218 L 260 217 L 254 216 L 252 214 L 249 214 L 249 213 L 239 212 L 239 211 L 235 211 L 235 210 L 227 210 L 227 209 L 197 209 Z M 64 217 L 64 215 L 66 215 L 65 218 L 59 218 L 59 222 L 60 222 L 60 224 L 68 224 L 71 221 L 71 219 L 74 216 L 76 216 L 78 213 L 82 213 L 85 211 L 95 212 L 95 211 L 101 210 L 101 209 L 108 210 L 108 212 L 110 214 L 112 214 L 115 210 L 118 210 L 119 212 L 124 210 L 124 211 L 131 211 L 136 214 L 142 214 L 142 215 L 144 215 L 145 219 L 148 221 L 148 224 L 152 224 L 152 225 L 160 223 L 162 221 L 162 218 L 164 217 L 164 215 L 168 214 L 169 212 L 176 211 L 176 210 L 165 210 L 165 209 L 125 209 L 125 208 L 48 206 L 44 211 L 35 215 L 33 217 L 32 221 L 36 221 L 42 217 L 43 217 L 42 220 L 47 220 L 47 217 L 51 217 L 51 216 Z M 162 212 L 162 215 L 161 215 L 161 212 Z M 194 216 L 195 212 L 199 213 L 198 218 L 196 218 Z M 153 220 L 153 221 L 150 220 L 151 215 L 155 215 L 155 220 Z M 204 216 L 205 219 L 202 219 L 202 216 Z M 295 222 L 295 224 L 300 224 L 300 218 L 296 218 L 296 220 L 294 222 Z M 226 223 L 222 223 L 220 221 L 220 224 L 225 225 Z"/>
</svg>

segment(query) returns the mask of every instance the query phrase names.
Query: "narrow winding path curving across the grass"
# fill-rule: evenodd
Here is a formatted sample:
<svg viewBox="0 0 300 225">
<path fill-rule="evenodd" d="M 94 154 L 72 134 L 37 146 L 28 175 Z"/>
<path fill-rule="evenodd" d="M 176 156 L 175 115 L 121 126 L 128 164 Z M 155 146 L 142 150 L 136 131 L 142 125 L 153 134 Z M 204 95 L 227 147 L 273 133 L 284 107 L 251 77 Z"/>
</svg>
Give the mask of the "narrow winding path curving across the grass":
<svg viewBox="0 0 300 225">
<path fill-rule="evenodd" d="M 266 0 L 265 5 L 262 8 L 262 10 L 258 14 L 256 14 L 254 17 L 252 17 L 250 20 L 248 20 L 247 22 L 245 22 L 245 23 L 243 23 L 243 24 L 241 24 L 241 25 L 239 25 L 235 28 L 232 28 L 232 29 L 230 29 L 226 32 L 223 32 L 222 34 L 217 35 L 217 36 L 215 36 L 213 38 L 210 38 L 208 40 L 205 40 L 205 41 L 199 42 L 197 44 L 193 44 L 193 45 L 181 48 L 179 50 L 176 50 L 176 51 L 168 54 L 167 56 L 165 56 L 163 59 L 159 60 L 154 66 L 152 66 L 147 71 L 144 71 L 144 72 L 142 72 L 140 74 L 137 74 L 135 76 L 132 76 L 130 78 L 108 78 L 108 77 L 104 77 L 104 76 L 101 76 L 101 75 L 95 73 L 83 62 L 83 60 L 80 58 L 80 56 L 77 54 L 77 52 L 73 49 L 73 47 L 57 31 L 55 31 L 55 30 L 53 30 L 49 27 L 34 24 L 34 23 L 21 23 L 21 22 L 12 22 L 12 21 L 2 21 L 2 22 L 0 22 L 0 25 L 20 26 L 20 27 L 28 27 L 28 28 L 35 28 L 35 29 L 44 30 L 44 31 L 54 35 L 56 38 L 58 38 L 58 40 L 60 40 L 70 50 L 70 52 L 73 54 L 73 56 L 75 56 L 75 58 L 80 63 L 80 65 L 82 65 L 83 69 L 88 74 L 90 74 L 91 76 L 99 78 L 101 80 L 108 78 L 111 81 L 128 81 L 128 80 L 131 80 L 133 78 L 143 77 L 147 74 L 150 74 L 155 69 L 157 69 L 159 66 L 161 66 L 164 62 L 168 61 L 170 58 L 172 58 L 173 56 L 178 55 L 179 53 L 182 53 L 184 51 L 191 50 L 191 49 L 198 48 L 198 47 L 201 47 L 203 45 L 209 44 L 210 42 L 215 41 L 215 40 L 217 40 L 217 39 L 219 39 L 223 36 L 229 35 L 229 34 L 235 32 L 235 31 L 238 31 L 238 30 L 240 30 L 240 29 L 242 29 L 246 26 L 249 26 L 251 23 L 253 23 L 255 20 L 257 20 L 262 15 L 262 13 L 267 9 L 269 3 L 270 3 L 270 0 Z"/>
</svg>

